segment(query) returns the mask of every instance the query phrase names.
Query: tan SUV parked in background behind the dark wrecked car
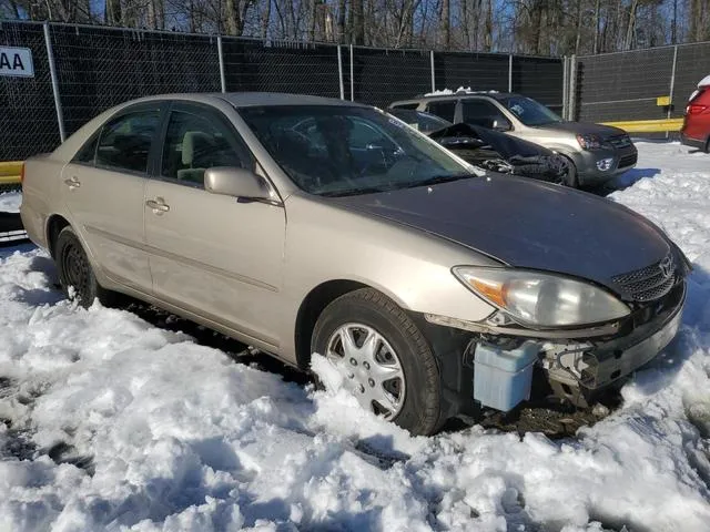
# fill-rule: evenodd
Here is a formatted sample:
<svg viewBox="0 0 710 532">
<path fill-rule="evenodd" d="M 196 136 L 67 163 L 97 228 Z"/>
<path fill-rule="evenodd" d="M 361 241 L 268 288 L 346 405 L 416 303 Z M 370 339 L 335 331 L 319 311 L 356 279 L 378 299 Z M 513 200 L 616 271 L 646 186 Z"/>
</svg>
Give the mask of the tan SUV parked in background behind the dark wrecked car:
<svg viewBox="0 0 710 532">
<path fill-rule="evenodd" d="M 506 132 L 540 144 L 567 158 L 572 187 L 602 185 L 636 166 L 638 152 L 618 127 L 567 122 L 531 98 L 507 92 L 433 94 L 402 100 L 392 109 L 427 111 L 449 122 Z"/>
</svg>

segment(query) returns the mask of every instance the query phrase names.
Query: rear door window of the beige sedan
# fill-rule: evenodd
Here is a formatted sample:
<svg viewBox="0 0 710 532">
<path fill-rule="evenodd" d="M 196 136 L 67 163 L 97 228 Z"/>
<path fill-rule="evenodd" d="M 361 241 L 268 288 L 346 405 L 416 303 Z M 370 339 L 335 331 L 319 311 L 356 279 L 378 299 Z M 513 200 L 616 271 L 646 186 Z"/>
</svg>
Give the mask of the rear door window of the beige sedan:
<svg viewBox="0 0 710 532">
<path fill-rule="evenodd" d="M 145 173 L 159 122 L 160 113 L 155 110 L 124 114 L 105 124 L 97 150 L 97 166 Z"/>
</svg>

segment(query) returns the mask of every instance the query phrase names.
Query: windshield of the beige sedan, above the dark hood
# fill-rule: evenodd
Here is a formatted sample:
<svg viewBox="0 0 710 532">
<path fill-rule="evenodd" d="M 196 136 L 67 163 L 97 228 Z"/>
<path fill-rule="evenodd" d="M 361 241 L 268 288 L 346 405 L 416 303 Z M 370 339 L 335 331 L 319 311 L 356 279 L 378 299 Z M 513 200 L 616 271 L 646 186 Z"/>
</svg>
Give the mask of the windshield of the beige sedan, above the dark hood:
<svg viewBox="0 0 710 532">
<path fill-rule="evenodd" d="M 365 194 L 471 176 L 471 166 L 374 109 L 277 105 L 240 113 L 284 172 L 311 194 Z"/>
</svg>

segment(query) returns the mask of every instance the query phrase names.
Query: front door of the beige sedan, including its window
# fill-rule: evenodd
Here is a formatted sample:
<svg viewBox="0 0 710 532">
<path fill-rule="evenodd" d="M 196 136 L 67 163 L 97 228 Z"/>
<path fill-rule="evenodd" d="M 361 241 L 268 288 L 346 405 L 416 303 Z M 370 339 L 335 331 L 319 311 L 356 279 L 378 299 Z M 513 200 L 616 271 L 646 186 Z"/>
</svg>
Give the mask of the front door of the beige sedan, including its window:
<svg viewBox="0 0 710 532">
<path fill-rule="evenodd" d="M 255 168 L 221 111 L 174 103 L 155 175 L 146 186 L 145 233 L 155 296 L 276 346 L 285 211 L 204 190 L 214 166 Z"/>
</svg>

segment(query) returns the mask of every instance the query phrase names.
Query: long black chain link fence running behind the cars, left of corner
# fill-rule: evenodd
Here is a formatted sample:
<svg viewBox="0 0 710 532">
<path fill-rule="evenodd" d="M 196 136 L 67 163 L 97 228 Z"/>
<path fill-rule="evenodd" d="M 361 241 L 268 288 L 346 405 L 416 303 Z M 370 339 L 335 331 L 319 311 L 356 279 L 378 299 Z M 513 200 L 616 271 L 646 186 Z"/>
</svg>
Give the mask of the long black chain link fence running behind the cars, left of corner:
<svg viewBox="0 0 710 532">
<path fill-rule="evenodd" d="M 33 76 L 0 75 L 0 161 L 51 151 L 118 103 L 171 92 L 290 92 L 386 108 L 470 86 L 562 105 L 560 59 L 20 21 L 0 22 L 0 47 L 30 49 L 34 64 Z"/>
</svg>

